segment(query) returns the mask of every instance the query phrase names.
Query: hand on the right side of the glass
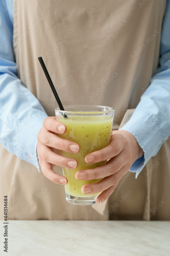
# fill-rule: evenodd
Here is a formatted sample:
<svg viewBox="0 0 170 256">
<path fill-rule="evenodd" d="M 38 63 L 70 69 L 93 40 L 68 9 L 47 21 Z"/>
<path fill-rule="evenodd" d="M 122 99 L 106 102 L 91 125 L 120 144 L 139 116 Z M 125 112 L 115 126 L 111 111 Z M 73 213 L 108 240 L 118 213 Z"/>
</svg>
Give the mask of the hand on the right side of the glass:
<svg viewBox="0 0 170 256">
<path fill-rule="evenodd" d="M 82 193 L 94 194 L 103 191 L 97 197 L 97 203 L 101 204 L 113 193 L 122 176 L 142 155 L 142 148 L 130 132 L 124 130 L 113 131 L 110 144 L 87 155 L 85 161 L 91 164 L 111 159 L 95 169 L 80 170 L 75 174 L 75 178 L 81 180 L 96 179 L 96 182 L 98 182 L 98 179 L 103 178 L 98 183 L 82 186 Z"/>
</svg>

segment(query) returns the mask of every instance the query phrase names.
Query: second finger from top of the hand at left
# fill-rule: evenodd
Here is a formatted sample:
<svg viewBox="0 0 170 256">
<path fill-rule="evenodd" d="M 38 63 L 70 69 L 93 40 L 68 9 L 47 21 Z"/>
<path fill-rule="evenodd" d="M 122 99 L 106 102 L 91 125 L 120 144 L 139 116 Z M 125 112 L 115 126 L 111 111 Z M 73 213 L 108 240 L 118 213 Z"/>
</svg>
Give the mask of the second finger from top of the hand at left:
<svg viewBox="0 0 170 256">
<path fill-rule="evenodd" d="M 80 146 L 77 143 L 58 137 L 56 134 L 45 131 L 39 140 L 46 146 L 53 147 L 70 153 L 78 153 Z"/>
</svg>

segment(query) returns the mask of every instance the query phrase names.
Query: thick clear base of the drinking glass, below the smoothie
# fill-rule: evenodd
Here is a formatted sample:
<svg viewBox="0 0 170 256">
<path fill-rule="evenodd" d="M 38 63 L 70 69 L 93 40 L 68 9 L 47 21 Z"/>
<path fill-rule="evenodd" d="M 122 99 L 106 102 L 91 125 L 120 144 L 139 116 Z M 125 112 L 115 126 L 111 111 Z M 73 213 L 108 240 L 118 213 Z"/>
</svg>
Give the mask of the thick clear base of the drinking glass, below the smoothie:
<svg viewBox="0 0 170 256">
<path fill-rule="evenodd" d="M 74 205 L 94 205 L 97 204 L 96 198 L 97 196 L 89 196 L 89 197 L 79 197 L 79 196 L 71 196 L 66 193 L 66 200 Z"/>
</svg>

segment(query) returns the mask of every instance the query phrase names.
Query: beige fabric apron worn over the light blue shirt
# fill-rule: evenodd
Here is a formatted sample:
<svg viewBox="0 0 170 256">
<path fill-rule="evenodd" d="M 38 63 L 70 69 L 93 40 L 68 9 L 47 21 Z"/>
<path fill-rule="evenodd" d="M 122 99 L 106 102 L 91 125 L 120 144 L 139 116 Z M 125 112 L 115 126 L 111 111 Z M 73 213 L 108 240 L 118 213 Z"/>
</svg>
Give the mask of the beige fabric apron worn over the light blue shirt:
<svg viewBox="0 0 170 256">
<path fill-rule="evenodd" d="M 117 128 L 127 108 L 136 108 L 141 88 L 158 65 L 166 1 L 150 0 L 142 7 L 139 3 L 139 0 L 14 2 L 13 45 L 18 76 L 49 116 L 55 115 L 56 101 L 37 60 L 40 56 L 63 105 L 112 106 Z M 151 36 L 148 43 L 146 40 Z M 137 179 L 128 172 L 107 203 L 94 208 L 69 204 L 64 186 L 49 181 L 32 164 L 1 149 L 1 195 L 8 194 L 9 218 L 56 219 L 56 222 L 142 219 L 163 199 L 166 203 L 152 219 L 170 219 L 169 158 L 145 177 L 146 169 L 167 152 L 167 145 L 163 144 Z M 56 166 L 54 170 L 61 174 L 62 168 Z"/>
</svg>

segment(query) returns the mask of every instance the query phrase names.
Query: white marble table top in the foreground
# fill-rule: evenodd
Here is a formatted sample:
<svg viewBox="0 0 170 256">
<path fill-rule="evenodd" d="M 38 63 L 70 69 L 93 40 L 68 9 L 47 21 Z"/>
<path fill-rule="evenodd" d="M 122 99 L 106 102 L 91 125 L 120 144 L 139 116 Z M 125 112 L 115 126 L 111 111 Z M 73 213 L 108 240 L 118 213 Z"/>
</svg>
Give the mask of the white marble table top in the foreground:
<svg viewBox="0 0 170 256">
<path fill-rule="evenodd" d="M 170 255 L 168 221 L 9 220 L 8 253 L 3 252 L 3 221 L 0 230 L 0 255 Z"/>
</svg>

